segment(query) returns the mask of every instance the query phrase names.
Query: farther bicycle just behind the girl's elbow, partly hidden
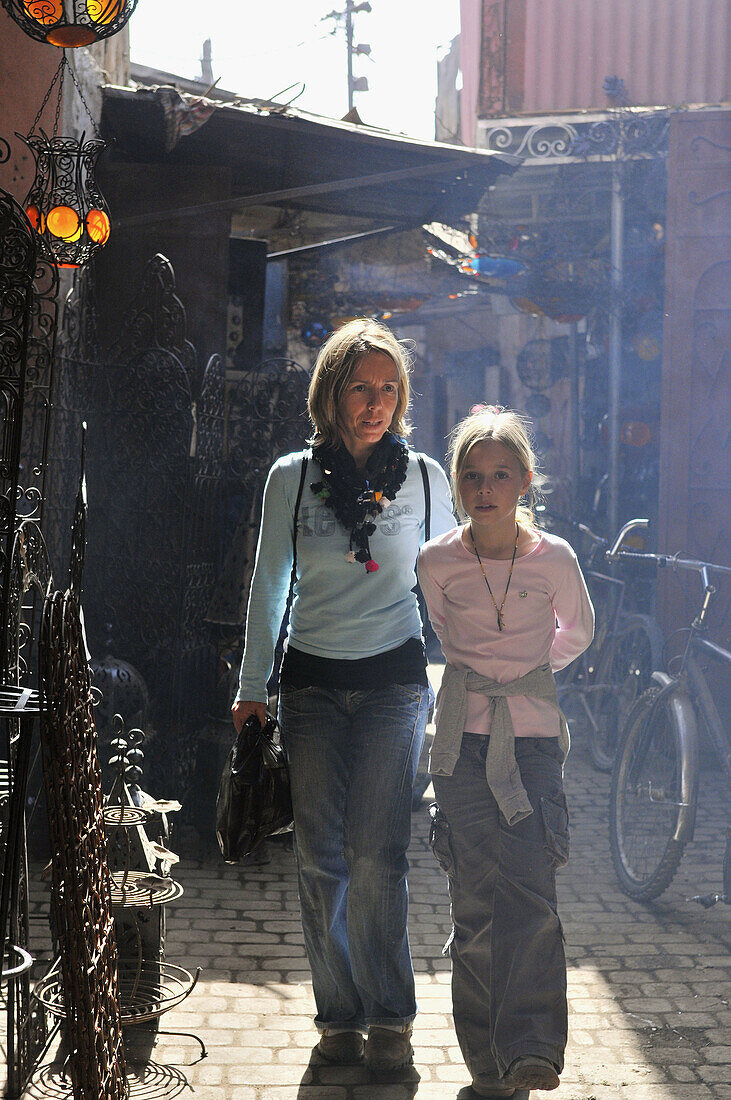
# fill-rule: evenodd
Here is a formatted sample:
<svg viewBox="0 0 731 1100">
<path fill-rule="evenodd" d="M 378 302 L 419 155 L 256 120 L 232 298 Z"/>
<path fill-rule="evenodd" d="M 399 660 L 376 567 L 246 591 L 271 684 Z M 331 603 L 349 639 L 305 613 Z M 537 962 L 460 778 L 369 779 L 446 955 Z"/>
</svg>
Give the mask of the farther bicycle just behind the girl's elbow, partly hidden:
<svg viewBox="0 0 731 1100">
<path fill-rule="evenodd" d="M 652 616 L 627 612 L 627 582 L 596 569 L 608 546 L 586 524 L 573 524 L 589 542 L 583 569 L 595 608 L 596 629 L 589 648 L 557 676 L 558 702 L 577 703 L 586 719 L 587 749 L 599 771 L 611 771 L 617 732 L 638 695 L 650 683 L 663 650 Z"/>
</svg>

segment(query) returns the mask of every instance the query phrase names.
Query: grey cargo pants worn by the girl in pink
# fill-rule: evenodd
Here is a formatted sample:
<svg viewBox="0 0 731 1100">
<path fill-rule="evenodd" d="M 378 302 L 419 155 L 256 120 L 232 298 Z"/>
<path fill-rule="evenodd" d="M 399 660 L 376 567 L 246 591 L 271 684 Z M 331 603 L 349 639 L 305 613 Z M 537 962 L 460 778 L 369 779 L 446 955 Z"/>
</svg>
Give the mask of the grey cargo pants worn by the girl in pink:
<svg viewBox="0 0 731 1100">
<path fill-rule="evenodd" d="M 454 1025 L 473 1077 L 502 1077 L 523 1055 L 561 1072 L 566 959 L 556 868 L 568 859 L 563 754 L 554 737 L 517 737 L 533 813 L 510 826 L 485 777 L 488 738 L 465 734 L 452 776 L 434 776 L 431 844 L 448 876 Z"/>
</svg>

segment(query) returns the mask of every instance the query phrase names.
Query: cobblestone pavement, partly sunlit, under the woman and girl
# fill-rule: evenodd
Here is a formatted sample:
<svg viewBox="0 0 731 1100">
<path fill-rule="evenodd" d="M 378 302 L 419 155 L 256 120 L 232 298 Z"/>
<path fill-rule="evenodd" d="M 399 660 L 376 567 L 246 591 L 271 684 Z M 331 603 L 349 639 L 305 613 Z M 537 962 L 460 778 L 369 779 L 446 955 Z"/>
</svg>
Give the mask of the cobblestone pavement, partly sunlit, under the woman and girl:
<svg viewBox="0 0 731 1100">
<path fill-rule="evenodd" d="M 577 738 L 578 740 L 578 738 Z M 580 743 L 566 767 L 573 857 L 561 872 L 568 953 L 571 1037 L 561 1088 L 532 1100 L 729 1100 L 729 914 L 687 898 L 720 889 L 720 785 L 704 773 L 697 835 L 667 892 L 651 905 L 618 889 L 607 838 L 608 778 Z M 270 862 L 226 867 L 193 860 L 185 836 L 176 877 L 185 895 L 170 906 L 167 958 L 202 975 L 190 998 L 162 1020 L 132 1098 L 167 1100 L 466 1100 L 468 1075 L 450 1015 L 445 881 L 427 845 L 427 800 L 413 816 L 411 944 L 420 1013 L 416 1063 L 388 1081 L 361 1067 L 319 1065 L 309 972 L 298 921 L 289 843 Z M 189 1035 L 203 1041 L 208 1056 Z M 130 1042 L 131 1059 L 140 1057 Z M 55 1066 L 38 1070 L 27 1097 L 68 1096 Z M 528 1093 L 523 1093 L 527 1097 Z"/>
</svg>

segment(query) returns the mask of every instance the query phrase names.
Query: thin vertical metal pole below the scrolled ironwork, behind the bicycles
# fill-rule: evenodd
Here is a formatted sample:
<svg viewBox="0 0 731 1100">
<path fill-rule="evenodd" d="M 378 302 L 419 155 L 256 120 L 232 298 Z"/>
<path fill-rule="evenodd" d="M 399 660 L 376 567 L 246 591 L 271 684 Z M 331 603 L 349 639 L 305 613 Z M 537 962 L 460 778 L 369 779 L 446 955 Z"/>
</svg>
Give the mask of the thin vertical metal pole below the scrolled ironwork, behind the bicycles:
<svg viewBox="0 0 731 1100">
<path fill-rule="evenodd" d="M 622 388 L 622 283 L 624 274 L 624 196 L 622 165 L 611 170 L 611 283 L 609 296 L 609 508 L 608 526 L 619 526 L 619 405 Z"/>
</svg>

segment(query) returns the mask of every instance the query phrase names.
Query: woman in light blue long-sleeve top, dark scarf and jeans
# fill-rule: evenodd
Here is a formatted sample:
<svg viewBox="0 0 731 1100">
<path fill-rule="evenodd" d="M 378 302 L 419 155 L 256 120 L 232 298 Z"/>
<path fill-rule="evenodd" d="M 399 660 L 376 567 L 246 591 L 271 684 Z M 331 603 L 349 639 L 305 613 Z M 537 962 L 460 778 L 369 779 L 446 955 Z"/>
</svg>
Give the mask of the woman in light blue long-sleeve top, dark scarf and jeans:
<svg viewBox="0 0 731 1100">
<path fill-rule="evenodd" d="M 427 496 L 431 534 L 454 526 L 443 471 L 405 442 L 409 369 L 394 334 L 364 318 L 320 351 L 312 452 L 276 462 L 264 490 L 233 705 L 236 729 L 264 721 L 295 560 L 279 721 L 318 1050 L 365 1055 L 375 1072 L 411 1062 L 417 1011 L 406 851 L 429 707 L 413 593 Z"/>
</svg>

